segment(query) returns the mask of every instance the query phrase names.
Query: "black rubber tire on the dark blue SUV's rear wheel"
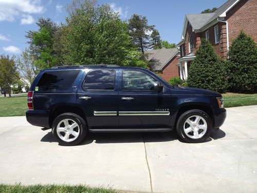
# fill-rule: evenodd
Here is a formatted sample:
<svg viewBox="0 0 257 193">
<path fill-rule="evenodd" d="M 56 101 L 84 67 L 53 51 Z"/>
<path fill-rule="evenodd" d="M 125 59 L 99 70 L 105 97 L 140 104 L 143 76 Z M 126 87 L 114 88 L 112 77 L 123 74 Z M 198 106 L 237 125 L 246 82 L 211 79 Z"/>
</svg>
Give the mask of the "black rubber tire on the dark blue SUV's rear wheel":
<svg viewBox="0 0 257 193">
<path fill-rule="evenodd" d="M 59 135 L 57 133 L 57 126 L 58 126 L 59 122 L 61 122 L 64 119 L 71 119 L 72 121 L 74 121 L 78 124 L 77 130 L 79 128 L 79 130 L 78 130 L 79 134 L 77 135 L 78 137 L 74 141 L 65 142 L 63 139 L 61 139 L 59 137 Z M 87 131 L 87 125 L 86 125 L 85 120 L 77 114 L 63 113 L 63 114 L 59 115 L 58 117 L 56 117 L 56 119 L 53 120 L 52 134 L 53 134 L 54 138 L 56 138 L 56 140 L 62 146 L 76 146 L 76 145 L 80 144 L 86 136 L 86 131 Z M 62 132 L 61 135 L 63 135 L 63 133 L 64 132 Z M 64 133 L 64 135 L 65 135 L 65 133 Z M 73 136 L 73 135 L 71 134 L 71 136 Z"/>
</svg>

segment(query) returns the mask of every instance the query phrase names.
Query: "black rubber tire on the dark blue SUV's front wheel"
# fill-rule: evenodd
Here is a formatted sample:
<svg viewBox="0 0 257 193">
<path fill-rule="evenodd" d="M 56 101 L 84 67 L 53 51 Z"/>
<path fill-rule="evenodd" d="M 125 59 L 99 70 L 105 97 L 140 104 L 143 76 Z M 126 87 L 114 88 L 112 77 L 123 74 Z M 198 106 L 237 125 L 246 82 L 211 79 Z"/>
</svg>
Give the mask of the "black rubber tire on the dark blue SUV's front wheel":
<svg viewBox="0 0 257 193">
<path fill-rule="evenodd" d="M 203 134 L 203 136 L 201 136 L 200 138 L 191 138 L 188 135 L 194 135 L 194 131 L 191 131 L 188 133 L 188 135 L 185 133 L 184 131 L 184 124 L 186 122 L 186 120 L 192 116 L 200 116 L 202 118 L 205 119 L 206 123 L 207 123 L 207 130 L 205 132 L 205 134 Z M 193 119 L 194 117 L 192 117 Z M 200 121 L 203 121 L 203 119 L 201 119 Z M 211 132 L 212 132 L 212 121 L 211 118 L 209 117 L 209 115 L 207 113 L 205 113 L 204 111 L 201 110 L 197 110 L 197 109 L 193 109 L 193 110 L 189 110 L 186 111 L 185 113 L 181 114 L 180 117 L 178 118 L 177 121 L 177 126 L 176 126 L 176 130 L 178 135 L 180 136 L 180 138 L 188 143 L 202 143 L 205 142 L 206 139 L 210 136 Z M 197 131 L 198 132 L 198 131 Z M 201 134 L 201 132 L 204 132 L 203 130 L 199 130 L 199 134 Z"/>
</svg>

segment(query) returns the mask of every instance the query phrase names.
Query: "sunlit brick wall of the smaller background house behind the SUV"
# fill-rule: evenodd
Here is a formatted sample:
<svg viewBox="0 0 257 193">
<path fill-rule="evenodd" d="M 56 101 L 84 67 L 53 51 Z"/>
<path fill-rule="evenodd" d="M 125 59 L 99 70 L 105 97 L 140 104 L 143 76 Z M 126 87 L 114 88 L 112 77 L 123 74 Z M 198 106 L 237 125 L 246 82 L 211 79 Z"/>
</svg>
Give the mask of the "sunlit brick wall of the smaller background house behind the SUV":
<svg viewBox="0 0 257 193">
<path fill-rule="evenodd" d="M 168 81 L 172 77 L 179 77 L 179 67 L 177 66 L 177 59 L 180 56 L 175 56 L 164 68 L 161 74 L 161 78 Z"/>
</svg>

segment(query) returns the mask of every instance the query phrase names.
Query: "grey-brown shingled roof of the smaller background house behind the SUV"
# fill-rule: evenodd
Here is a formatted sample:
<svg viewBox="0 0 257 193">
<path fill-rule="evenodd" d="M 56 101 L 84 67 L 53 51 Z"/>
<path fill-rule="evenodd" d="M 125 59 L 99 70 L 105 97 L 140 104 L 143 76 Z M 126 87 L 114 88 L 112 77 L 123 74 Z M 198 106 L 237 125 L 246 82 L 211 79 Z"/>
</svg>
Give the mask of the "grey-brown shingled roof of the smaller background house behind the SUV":
<svg viewBox="0 0 257 193">
<path fill-rule="evenodd" d="M 145 51 L 149 54 L 150 68 L 152 71 L 159 71 L 164 67 L 174 56 L 179 53 L 177 48 L 161 48 Z"/>
</svg>

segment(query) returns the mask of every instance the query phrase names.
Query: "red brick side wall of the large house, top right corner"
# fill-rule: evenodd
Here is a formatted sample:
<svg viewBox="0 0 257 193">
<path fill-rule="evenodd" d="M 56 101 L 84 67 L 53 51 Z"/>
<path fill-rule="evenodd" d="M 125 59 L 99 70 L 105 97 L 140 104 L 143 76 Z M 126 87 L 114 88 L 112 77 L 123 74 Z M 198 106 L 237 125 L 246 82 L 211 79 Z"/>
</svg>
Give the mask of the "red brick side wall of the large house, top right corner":
<svg viewBox="0 0 257 193">
<path fill-rule="evenodd" d="M 241 0 L 228 11 L 225 20 L 229 26 L 229 45 L 241 30 L 257 42 L 257 1 Z"/>
</svg>

